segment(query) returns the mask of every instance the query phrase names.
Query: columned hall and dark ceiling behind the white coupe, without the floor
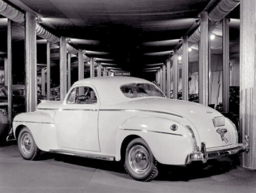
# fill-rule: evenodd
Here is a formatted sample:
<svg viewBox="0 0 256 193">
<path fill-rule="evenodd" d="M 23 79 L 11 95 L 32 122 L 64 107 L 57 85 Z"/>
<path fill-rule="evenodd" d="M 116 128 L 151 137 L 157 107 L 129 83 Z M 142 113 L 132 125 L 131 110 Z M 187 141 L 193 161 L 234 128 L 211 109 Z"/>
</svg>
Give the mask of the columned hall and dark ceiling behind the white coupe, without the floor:
<svg viewBox="0 0 256 193">
<path fill-rule="evenodd" d="M 83 78 L 139 77 L 232 119 L 249 136 L 239 165 L 256 169 L 254 0 L 0 0 L 0 34 L 9 120 Z"/>
</svg>

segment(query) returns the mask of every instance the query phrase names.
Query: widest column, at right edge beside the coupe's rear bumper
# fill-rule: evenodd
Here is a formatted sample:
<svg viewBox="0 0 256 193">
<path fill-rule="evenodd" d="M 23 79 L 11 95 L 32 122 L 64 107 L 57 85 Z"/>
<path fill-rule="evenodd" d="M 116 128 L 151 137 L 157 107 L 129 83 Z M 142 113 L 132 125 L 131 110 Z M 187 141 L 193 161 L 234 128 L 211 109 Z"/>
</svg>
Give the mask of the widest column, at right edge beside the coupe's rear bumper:
<svg viewBox="0 0 256 193">
<path fill-rule="evenodd" d="M 256 4 L 240 4 L 240 137 L 250 138 L 250 152 L 242 154 L 241 165 L 256 169 Z M 241 142 L 242 142 L 241 140 Z"/>
</svg>

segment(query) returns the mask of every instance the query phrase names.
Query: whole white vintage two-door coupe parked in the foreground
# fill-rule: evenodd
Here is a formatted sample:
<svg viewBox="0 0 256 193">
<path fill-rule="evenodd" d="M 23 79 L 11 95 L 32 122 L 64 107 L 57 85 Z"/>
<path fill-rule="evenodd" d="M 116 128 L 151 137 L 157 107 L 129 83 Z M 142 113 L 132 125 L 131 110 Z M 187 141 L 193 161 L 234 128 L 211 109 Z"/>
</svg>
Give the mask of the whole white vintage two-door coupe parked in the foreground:
<svg viewBox="0 0 256 193">
<path fill-rule="evenodd" d="M 63 101 L 43 101 L 14 118 L 24 159 L 40 151 L 123 161 L 136 180 L 157 176 L 157 163 L 186 165 L 248 152 L 236 126 L 201 104 L 167 99 L 153 83 L 95 77 L 73 84 Z"/>
</svg>

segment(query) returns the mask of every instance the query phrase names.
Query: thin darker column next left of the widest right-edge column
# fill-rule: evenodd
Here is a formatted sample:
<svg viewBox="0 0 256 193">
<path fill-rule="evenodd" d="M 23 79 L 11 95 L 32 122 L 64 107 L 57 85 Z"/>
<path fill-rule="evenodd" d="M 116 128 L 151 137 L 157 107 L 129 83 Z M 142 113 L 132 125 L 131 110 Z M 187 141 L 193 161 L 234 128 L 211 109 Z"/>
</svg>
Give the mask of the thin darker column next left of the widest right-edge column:
<svg viewBox="0 0 256 193">
<path fill-rule="evenodd" d="M 223 112 L 228 112 L 229 105 L 229 19 L 223 18 Z"/>
</svg>

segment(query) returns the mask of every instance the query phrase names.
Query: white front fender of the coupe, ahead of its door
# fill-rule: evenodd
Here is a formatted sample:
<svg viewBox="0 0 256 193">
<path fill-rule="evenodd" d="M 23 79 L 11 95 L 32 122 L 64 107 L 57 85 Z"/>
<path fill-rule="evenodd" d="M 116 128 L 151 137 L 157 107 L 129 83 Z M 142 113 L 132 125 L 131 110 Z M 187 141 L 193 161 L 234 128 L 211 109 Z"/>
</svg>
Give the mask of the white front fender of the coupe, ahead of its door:
<svg viewBox="0 0 256 193">
<path fill-rule="evenodd" d="M 33 135 L 36 145 L 42 151 L 58 148 L 54 124 L 55 111 L 35 111 L 18 114 L 13 119 L 13 133 L 17 139 L 17 128 L 27 126 Z"/>
</svg>

